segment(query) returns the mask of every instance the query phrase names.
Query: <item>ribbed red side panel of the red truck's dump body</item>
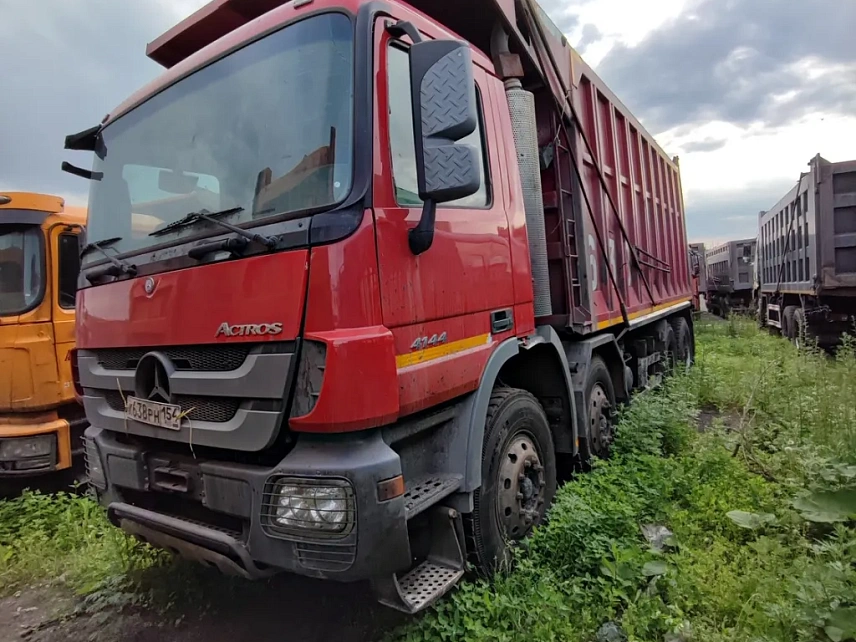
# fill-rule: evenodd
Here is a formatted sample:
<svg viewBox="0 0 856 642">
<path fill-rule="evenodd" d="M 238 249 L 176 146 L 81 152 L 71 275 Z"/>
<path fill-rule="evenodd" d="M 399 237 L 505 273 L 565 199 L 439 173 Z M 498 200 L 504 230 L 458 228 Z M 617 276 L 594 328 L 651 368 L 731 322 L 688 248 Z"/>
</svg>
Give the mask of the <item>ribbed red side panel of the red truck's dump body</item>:
<svg viewBox="0 0 856 642">
<path fill-rule="evenodd" d="M 576 58 L 574 66 L 574 102 L 583 124 L 576 145 L 591 204 L 583 199 L 579 225 L 586 239 L 592 329 L 598 330 L 622 321 L 622 302 L 633 319 L 689 300 L 692 284 L 677 160 L 584 62 Z"/>
</svg>

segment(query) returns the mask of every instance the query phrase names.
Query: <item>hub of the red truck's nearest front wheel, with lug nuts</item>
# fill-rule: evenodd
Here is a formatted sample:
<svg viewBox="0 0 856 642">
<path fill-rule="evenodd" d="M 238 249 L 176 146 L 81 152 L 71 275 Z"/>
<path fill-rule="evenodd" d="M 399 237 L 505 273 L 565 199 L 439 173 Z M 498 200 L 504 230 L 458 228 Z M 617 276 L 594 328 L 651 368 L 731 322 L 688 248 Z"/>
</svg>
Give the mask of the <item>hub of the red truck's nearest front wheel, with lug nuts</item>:
<svg viewBox="0 0 856 642">
<path fill-rule="evenodd" d="M 510 539 L 522 539 L 544 510 L 544 466 L 533 439 L 516 435 L 499 468 L 497 514 Z"/>
</svg>

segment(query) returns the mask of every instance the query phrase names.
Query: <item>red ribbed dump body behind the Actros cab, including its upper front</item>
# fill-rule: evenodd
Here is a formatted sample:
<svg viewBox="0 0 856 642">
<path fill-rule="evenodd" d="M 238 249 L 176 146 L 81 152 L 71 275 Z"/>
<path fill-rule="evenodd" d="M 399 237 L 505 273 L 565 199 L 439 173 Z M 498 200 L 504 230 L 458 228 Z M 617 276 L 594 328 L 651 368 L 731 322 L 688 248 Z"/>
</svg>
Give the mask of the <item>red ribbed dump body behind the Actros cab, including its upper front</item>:
<svg viewBox="0 0 856 642">
<path fill-rule="evenodd" d="M 459 33 L 474 34 L 468 39 L 483 51 L 490 51 L 484 30 L 468 16 L 501 15 L 512 41 L 521 43 L 524 66 L 542 69 L 549 82 L 549 89 L 532 88 L 538 145 L 546 150 L 541 184 L 553 308 L 539 320 L 585 334 L 690 300 L 677 158 L 657 145 L 546 13 L 532 3 L 548 49 L 539 56 L 523 44 L 520 3 L 473 1 L 471 12 L 454 3 L 413 4 Z M 561 119 L 553 113 L 556 97 L 568 92 L 579 117 L 570 136 L 559 131 Z"/>
</svg>

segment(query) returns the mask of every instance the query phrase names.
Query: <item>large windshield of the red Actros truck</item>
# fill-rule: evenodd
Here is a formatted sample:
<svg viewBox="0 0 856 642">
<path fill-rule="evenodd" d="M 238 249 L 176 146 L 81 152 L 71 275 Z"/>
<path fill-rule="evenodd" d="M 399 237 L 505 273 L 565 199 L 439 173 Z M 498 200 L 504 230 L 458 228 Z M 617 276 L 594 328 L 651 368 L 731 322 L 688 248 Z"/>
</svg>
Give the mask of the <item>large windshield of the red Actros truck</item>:
<svg viewBox="0 0 856 642">
<path fill-rule="evenodd" d="M 203 226 L 149 233 L 201 209 L 242 207 L 223 217 L 239 224 L 342 201 L 353 165 L 352 32 L 340 13 L 307 18 L 105 127 L 89 240 L 122 237 L 110 251 L 128 252 L 198 235 Z"/>
</svg>

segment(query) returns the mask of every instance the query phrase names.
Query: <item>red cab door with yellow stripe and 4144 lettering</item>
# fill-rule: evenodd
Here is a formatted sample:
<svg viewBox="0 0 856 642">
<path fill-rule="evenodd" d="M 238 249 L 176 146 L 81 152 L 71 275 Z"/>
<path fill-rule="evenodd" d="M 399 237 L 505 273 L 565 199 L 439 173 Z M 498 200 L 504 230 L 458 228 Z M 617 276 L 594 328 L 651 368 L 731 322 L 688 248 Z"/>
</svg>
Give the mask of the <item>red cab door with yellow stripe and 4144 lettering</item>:
<svg viewBox="0 0 856 642">
<path fill-rule="evenodd" d="M 501 159 L 492 145 L 490 82 L 476 64 L 479 123 L 462 143 L 481 160 L 481 187 L 437 205 L 432 246 L 414 256 L 408 231 L 419 222 L 410 94 L 409 46 L 386 25 L 412 22 L 422 37 L 436 26 L 399 7 L 375 25 L 375 184 L 373 200 L 383 322 L 395 337 L 402 414 L 475 389 L 498 341 L 514 334 L 511 244 L 500 184 Z M 475 56 L 474 56 L 475 58 Z M 497 323 L 497 320 L 500 322 Z"/>
</svg>

